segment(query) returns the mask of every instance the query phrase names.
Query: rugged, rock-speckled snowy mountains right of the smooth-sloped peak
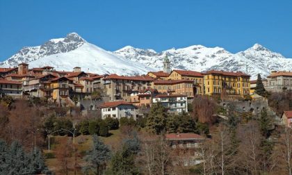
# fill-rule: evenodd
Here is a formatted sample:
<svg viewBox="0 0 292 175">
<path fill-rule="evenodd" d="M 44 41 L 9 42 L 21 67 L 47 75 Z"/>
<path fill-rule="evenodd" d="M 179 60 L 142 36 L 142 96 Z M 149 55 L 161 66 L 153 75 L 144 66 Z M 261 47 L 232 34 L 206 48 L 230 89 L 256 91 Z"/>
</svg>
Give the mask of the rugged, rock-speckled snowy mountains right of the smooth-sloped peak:
<svg viewBox="0 0 292 175">
<path fill-rule="evenodd" d="M 255 79 L 259 73 L 265 77 L 273 70 L 292 70 L 292 59 L 284 58 L 281 54 L 274 53 L 260 44 L 254 44 L 250 49 L 238 53 L 230 53 L 220 47 L 208 48 L 202 45 L 169 49 L 161 53 L 152 49 L 127 46 L 113 53 L 156 69 L 162 69 L 163 58 L 167 53 L 173 69 L 200 72 L 210 69 L 241 71 L 252 75 L 252 79 Z"/>
</svg>

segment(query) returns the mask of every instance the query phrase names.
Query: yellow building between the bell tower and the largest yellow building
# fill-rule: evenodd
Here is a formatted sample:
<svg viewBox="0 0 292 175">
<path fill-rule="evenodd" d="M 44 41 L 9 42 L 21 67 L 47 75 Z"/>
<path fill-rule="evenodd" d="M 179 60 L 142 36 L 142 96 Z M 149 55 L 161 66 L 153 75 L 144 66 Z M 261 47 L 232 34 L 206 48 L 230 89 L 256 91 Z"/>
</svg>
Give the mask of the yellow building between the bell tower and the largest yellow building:
<svg viewBox="0 0 292 175">
<path fill-rule="evenodd" d="M 195 94 L 203 94 L 204 92 L 204 75 L 200 72 L 186 71 L 186 70 L 173 70 L 168 80 L 191 80 L 193 81 L 193 88 Z"/>
</svg>

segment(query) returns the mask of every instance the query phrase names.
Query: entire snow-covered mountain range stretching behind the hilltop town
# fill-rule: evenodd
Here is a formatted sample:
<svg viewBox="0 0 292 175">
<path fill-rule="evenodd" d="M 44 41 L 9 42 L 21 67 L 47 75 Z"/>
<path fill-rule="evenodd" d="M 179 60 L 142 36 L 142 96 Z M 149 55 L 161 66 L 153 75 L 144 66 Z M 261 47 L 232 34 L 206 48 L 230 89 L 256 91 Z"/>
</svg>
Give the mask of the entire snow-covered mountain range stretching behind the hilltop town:
<svg viewBox="0 0 292 175">
<path fill-rule="evenodd" d="M 204 72 L 210 69 L 241 71 L 250 74 L 268 76 L 271 71 L 292 71 L 292 59 L 284 58 L 261 46 L 238 53 L 230 53 L 221 47 L 193 45 L 181 49 L 168 49 L 156 52 L 153 49 L 138 49 L 131 46 L 117 51 L 105 51 L 86 42 L 77 33 L 69 33 L 65 38 L 51 39 L 41 46 L 24 47 L 0 67 L 13 67 L 19 63 L 29 63 L 30 67 L 50 65 L 58 70 L 71 71 L 79 66 L 83 71 L 97 74 L 146 74 L 148 71 L 163 69 L 166 53 L 172 69 L 186 69 Z"/>
</svg>

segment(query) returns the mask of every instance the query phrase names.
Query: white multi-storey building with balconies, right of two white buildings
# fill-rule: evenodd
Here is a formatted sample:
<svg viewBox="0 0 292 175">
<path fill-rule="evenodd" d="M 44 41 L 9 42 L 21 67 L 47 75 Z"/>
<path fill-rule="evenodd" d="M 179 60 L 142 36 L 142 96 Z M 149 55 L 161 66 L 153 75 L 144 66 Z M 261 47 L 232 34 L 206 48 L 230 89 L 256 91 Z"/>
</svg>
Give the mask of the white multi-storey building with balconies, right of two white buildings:
<svg viewBox="0 0 292 175">
<path fill-rule="evenodd" d="M 188 113 L 187 96 L 183 94 L 158 94 L 153 103 L 161 103 L 170 113 Z"/>
</svg>

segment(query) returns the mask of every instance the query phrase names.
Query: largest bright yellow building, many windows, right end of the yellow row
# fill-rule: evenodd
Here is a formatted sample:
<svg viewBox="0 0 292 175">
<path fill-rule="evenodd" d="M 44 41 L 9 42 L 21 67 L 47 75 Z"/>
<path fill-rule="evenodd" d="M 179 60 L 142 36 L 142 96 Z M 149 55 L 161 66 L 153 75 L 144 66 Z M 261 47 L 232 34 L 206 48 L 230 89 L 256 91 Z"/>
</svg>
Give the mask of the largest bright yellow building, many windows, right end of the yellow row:
<svg viewBox="0 0 292 175">
<path fill-rule="evenodd" d="M 243 72 L 223 72 L 211 70 L 204 73 L 205 94 L 226 94 L 244 97 L 250 94 L 250 75 Z"/>
</svg>

